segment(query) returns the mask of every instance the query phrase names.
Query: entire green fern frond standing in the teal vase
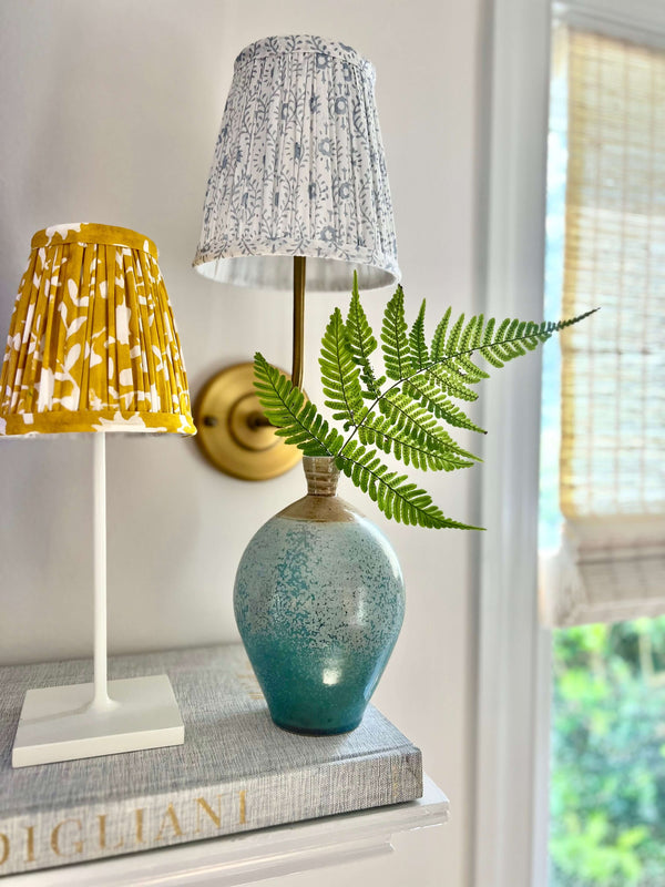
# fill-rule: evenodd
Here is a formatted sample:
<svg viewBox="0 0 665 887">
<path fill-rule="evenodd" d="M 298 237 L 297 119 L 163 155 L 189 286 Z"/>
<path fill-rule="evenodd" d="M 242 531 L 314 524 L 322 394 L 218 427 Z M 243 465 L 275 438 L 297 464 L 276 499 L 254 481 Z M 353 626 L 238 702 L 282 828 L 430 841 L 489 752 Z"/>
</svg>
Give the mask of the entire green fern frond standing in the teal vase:
<svg viewBox="0 0 665 887">
<path fill-rule="evenodd" d="M 420 469 L 453 470 L 477 461 L 444 430 L 443 424 L 482 431 L 450 398 L 473 401 L 472 386 L 488 378 L 474 361 L 507 361 L 533 350 L 554 333 L 593 312 L 559 323 L 507 318 L 487 323 L 482 314 L 452 319 L 450 308 L 437 326 L 428 349 L 424 302 L 410 332 L 405 319 L 400 286 L 386 307 L 381 326 L 385 370 L 391 380 L 377 377 L 370 363 L 377 350 L 367 316 L 360 305 L 357 276 L 346 324 L 339 309 L 330 317 L 319 359 L 326 405 L 332 417 L 350 431 L 346 441 L 328 426 L 316 407 L 288 377 L 265 358 L 255 356 L 256 390 L 276 434 L 309 456 L 334 456 L 354 483 L 378 503 L 383 513 L 421 527 L 478 529 L 450 520 L 424 490 L 383 465 L 379 451 L 391 453 Z M 369 407 L 367 400 L 371 400 Z"/>
</svg>

